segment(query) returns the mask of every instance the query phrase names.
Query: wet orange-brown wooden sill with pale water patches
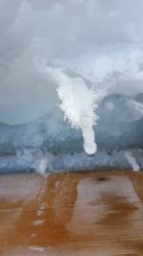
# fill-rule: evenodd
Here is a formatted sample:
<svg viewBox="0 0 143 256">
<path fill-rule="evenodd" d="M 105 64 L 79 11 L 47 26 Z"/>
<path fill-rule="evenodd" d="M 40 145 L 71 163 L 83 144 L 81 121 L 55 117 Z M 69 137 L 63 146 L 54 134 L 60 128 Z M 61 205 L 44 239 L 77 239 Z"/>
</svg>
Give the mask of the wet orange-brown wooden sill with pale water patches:
<svg viewBox="0 0 143 256">
<path fill-rule="evenodd" d="M 143 173 L 1 175 L 3 255 L 143 255 Z"/>
</svg>

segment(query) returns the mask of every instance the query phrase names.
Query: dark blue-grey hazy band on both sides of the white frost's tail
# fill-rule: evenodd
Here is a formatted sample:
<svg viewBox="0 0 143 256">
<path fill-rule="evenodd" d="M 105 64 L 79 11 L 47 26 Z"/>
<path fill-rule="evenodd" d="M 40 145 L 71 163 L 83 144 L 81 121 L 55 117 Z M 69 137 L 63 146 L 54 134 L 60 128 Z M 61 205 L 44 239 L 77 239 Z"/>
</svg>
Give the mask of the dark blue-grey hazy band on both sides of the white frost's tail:
<svg viewBox="0 0 143 256">
<path fill-rule="evenodd" d="M 103 99 L 97 109 L 96 141 L 99 151 L 143 149 L 143 117 L 138 108 L 129 107 L 134 100 L 143 103 L 140 95 L 134 99 L 125 95 L 110 95 Z M 24 149 L 56 154 L 83 151 L 80 130 L 71 128 L 63 118 L 57 106 L 48 115 L 28 124 L 10 126 L 1 122 L 0 156 L 14 155 Z"/>
</svg>

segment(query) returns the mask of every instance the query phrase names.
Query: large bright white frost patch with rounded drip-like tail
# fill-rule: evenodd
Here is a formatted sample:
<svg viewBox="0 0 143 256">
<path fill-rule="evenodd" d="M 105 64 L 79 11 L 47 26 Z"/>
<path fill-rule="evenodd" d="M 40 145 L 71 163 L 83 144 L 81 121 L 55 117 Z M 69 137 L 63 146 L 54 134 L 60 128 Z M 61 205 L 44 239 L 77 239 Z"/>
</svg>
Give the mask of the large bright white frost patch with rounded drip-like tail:
<svg viewBox="0 0 143 256">
<path fill-rule="evenodd" d="M 57 93 L 64 119 L 72 128 L 81 128 L 84 150 L 88 154 L 94 154 L 97 146 L 93 126 L 98 116 L 95 114 L 97 105 L 93 88 L 89 88 L 82 78 L 70 77 L 60 68 L 47 67 L 47 71 L 58 85 Z"/>
</svg>

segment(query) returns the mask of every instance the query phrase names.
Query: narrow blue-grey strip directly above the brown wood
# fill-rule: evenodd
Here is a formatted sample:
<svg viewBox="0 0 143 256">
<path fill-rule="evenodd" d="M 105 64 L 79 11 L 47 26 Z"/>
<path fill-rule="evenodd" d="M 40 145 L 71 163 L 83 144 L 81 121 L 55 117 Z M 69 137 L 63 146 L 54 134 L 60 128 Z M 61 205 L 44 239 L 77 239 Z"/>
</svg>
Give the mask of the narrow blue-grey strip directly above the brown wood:
<svg viewBox="0 0 143 256">
<path fill-rule="evenodd" d="M 97 151 L 94 155 L 85 152 L 51 152 L 0 156 L 0 174 L 58 173 L 85 170 L 143 170 L 143 150 Z"/>
</svg>

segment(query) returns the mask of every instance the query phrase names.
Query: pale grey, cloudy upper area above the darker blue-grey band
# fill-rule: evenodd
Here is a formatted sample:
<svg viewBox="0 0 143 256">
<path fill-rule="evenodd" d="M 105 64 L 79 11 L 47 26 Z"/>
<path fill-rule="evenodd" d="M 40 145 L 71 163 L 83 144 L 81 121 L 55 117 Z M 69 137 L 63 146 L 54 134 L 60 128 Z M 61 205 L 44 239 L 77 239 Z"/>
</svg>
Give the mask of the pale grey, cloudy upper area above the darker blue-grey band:
<svg viewBox="0 0 143 256">
<path fill-rule="evenodd" d="M 0 121 L 29 122 L 57 104 L 37 59 L 92 81 L 128 71 L 141 91 L 142 11 L 142 0 L 0 0 Z"/>
</svg>

